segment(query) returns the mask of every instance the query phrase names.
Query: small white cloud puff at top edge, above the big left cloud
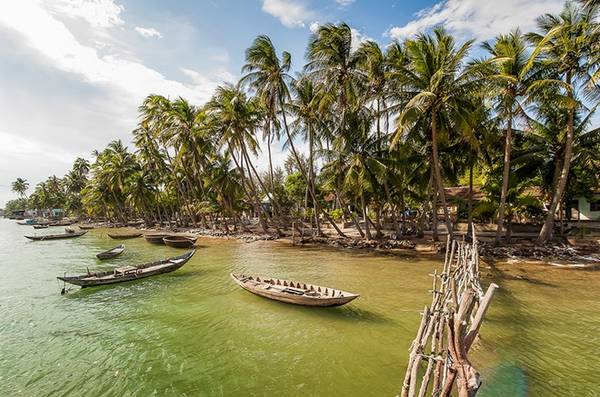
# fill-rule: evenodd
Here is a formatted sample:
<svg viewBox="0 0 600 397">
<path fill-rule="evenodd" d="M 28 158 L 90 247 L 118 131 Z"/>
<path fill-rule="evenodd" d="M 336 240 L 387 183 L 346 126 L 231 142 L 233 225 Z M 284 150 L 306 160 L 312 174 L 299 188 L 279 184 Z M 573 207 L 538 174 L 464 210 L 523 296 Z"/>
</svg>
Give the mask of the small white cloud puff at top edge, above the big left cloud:
<svg viewBox="0 0 600 397">
<path fill-rule="evenodd" d="M 109 28 L 123 24 L 120 14 L 124 7 L 114 0 L 43 0 L 43 3 L 53 13 L 81 18 L 92 27 Z"/>
</svg>

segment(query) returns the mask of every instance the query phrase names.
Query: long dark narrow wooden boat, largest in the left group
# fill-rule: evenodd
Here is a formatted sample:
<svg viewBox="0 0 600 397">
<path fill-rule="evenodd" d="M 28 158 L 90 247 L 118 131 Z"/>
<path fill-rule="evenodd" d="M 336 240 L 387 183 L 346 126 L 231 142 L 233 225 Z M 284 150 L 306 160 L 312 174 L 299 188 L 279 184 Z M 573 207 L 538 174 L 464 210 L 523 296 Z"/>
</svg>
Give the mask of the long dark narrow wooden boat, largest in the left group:
<svg viewBox="0 0 600 397">
<path fill-rule="evenodd" d="M 150 276 L 156 276 L 162 273 L 175 271 L 185 265 L 196 251 L 190 251 L 183 255 L 167 258 L 156 262 L 145 263 L 140 266 L 118 267 L 107 272 L 97 272 L 84 274 L 81 276 L 57 277 L 59 280 L 79 285 L 82 288 L 93 287 L 97 285 L 122 283 L 125 281 L 137 280 Z"/>
</svg>

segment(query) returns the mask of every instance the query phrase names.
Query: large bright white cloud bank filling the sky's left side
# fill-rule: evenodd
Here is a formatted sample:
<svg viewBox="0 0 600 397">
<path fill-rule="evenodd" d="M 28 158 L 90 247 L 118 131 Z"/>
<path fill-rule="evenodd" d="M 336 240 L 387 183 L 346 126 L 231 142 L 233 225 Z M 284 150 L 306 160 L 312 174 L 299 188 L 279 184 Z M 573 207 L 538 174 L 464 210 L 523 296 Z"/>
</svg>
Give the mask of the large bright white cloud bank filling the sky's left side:
<svg viewBox="0 0 600 397">
<path fill-rule="evenodd" d="M 110 28 L 125 24 L 122 10 L 108 0 L 19 0 L 3 8 L 0 204 L 13 197 L 5 186 L 16 177 L 35 184 L 48 174 L 63 175 L 76 156 L 89 156 L 113 139 L 127 143 L 148 94 L 200 105 L 217 84 L 233 78 L 224 69 L 188 68 L 178 81 L 118 50 Z M 98 44 L 96 32 L 108 44 Z"/>
</svg>

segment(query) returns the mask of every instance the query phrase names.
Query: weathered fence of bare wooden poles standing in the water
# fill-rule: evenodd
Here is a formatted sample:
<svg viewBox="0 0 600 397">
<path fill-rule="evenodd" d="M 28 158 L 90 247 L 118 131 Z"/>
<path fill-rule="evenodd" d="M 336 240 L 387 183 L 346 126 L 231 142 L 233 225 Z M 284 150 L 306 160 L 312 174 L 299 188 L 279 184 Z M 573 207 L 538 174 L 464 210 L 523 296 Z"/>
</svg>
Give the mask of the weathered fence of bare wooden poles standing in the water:
<svg viewBox="0 0 600 397">
<path fill-rule="evenodd" d="M 448 238 L 444 269 L 431 276 L 431 306 L 410 347 L 400 397 L 449 397 L 454 387 L 459 397 L 473 397 L 481 380 L 468 353 L 498 288 L 483 292 L 475 231 L 472 243 Z"/>
</svg>

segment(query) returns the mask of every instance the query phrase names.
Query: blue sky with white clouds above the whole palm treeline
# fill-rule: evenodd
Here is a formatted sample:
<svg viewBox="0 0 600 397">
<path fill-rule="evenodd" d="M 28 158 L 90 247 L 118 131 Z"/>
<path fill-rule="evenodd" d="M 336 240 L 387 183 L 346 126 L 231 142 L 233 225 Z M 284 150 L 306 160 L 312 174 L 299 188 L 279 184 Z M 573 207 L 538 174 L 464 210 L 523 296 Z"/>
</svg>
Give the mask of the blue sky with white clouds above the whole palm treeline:
<svg viewBox="0 0 600 397">
<path fill-rule="evenodd" d="M 113 139 L 129 142 L 150 93 L 202 104 L 239 78 L 259 34 L 300 69 L 319 24 L 386 45 L 442 24 L 479 41 L 530 30 L 562 0 L 8 0 L 0 12 L 0 205 L 17 177 L 62 176 Z M 477 52 L 474 52 L 476 54 Z M 284 154 L 275 147 L 275 162 Z M 257 159 L 264 167 L 265 159 Z"/>
</svg>

